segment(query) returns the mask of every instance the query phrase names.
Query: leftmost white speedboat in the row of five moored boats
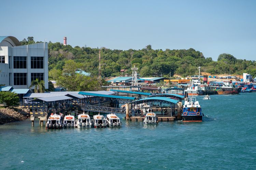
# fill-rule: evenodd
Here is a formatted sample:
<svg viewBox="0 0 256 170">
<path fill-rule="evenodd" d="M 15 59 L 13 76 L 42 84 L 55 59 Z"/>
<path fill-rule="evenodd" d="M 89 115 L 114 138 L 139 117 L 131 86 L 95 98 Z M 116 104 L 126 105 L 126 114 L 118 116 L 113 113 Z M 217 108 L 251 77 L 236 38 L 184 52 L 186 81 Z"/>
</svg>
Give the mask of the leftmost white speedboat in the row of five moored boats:
<svg viewBox="0 0 256 170">
<path fill-rule="evenodd" d="M 60 129 L 63 127 L 63 118 L 57 114 L 51 114 L 46 124 L 46 129 Z"/>
</svg>

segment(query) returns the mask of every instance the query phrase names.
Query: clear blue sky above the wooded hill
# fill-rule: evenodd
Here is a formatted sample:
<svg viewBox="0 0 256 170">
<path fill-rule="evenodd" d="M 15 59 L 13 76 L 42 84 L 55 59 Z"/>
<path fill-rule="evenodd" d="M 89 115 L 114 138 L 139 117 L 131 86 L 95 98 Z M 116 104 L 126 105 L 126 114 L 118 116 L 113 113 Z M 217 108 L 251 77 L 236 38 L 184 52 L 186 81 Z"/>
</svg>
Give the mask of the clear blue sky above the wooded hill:
<svg viewBox="0 0 256 170">
<path fill-rule="evenodd" d="M 256 1 L 3 1 L 1 35 L 110 49 L 189 49 L 256 60 Z"/>
</svg>

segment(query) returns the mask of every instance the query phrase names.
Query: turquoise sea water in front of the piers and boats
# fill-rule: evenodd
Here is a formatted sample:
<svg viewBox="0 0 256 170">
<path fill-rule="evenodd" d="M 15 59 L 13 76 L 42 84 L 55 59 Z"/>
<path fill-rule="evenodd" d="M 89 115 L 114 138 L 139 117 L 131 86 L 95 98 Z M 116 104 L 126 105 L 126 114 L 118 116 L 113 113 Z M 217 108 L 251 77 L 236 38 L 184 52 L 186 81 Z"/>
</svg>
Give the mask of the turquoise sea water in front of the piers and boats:
<svg viewBox="0 0 256 170">
<path fill-rule="evenodd" d="M 203 122 L 122 128 L 0 126 L 1 169 L 256 169 L 256 93 L 197 97 Z"/>
</svg>

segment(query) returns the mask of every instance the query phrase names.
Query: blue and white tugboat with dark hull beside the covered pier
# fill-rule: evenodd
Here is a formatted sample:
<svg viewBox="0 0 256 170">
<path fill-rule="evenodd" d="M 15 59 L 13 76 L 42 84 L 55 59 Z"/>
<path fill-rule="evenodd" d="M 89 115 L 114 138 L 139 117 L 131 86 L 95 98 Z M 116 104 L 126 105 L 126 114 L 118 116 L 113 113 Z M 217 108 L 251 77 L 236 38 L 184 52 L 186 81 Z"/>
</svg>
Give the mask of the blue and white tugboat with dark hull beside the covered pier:
<svg viewBox="0 0 256 170">
<path fill-rule="evenodd" d="M 183 122 L 201 122 L 202 121 L 202 110 L 199 102 L 196 98 L 188 98 L 183 105 L 182 113 Z"/>
</svg>

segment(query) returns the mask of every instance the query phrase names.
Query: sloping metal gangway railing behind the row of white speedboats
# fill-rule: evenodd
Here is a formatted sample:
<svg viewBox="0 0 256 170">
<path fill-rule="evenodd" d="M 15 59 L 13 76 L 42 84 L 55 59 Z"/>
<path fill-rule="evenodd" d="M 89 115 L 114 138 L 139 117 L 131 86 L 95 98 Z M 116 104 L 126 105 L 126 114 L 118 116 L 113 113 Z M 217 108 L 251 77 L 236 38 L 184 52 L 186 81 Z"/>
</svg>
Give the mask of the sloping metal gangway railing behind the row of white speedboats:
<svg viewBox="0 0 256 170">
<path fill-rule="evenodd" d="M 120 113 L 125 114 L 125 108 L 113 108 L 113 107 L 102 107 L 102 106 L 93 106 L 93 105 L 86 105 L 82 108 L 84 111 L 92 111 L 92 112 L 102 112 L 102 113 Z"/>
</svg>

